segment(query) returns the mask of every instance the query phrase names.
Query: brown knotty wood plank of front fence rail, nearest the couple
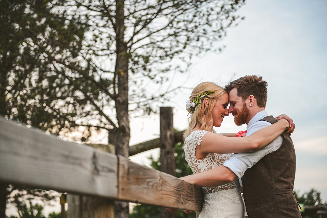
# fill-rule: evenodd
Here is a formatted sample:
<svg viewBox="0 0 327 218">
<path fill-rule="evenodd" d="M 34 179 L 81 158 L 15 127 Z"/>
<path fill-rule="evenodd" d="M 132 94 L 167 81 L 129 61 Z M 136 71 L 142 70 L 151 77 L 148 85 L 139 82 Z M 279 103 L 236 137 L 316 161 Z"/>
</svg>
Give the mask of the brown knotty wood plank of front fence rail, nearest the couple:
<svg viewBox="0 0 327 218">
<path fill-rule="evenodd" d="M 149 205 L 200 211 L 201 188 L 118 156 L 118 198 Z M 177 197 L 176 197 L 177 196 Z"/>
</svg>

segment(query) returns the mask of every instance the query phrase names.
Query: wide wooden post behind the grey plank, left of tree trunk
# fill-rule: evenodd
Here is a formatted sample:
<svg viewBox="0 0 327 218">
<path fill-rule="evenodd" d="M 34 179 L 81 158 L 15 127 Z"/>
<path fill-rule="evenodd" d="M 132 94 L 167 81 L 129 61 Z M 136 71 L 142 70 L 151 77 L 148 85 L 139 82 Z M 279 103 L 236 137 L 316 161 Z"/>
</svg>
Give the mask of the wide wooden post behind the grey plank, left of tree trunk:
<svg viewBox="0 0 327 218">
<path fill-rule="evenodd" d="M 109 153 L 115 152 L 113 145 L 88 144 Z M 67 194 L 67 218 L 114 218 L 113 201 L 106 198 Z"/>
</svg>

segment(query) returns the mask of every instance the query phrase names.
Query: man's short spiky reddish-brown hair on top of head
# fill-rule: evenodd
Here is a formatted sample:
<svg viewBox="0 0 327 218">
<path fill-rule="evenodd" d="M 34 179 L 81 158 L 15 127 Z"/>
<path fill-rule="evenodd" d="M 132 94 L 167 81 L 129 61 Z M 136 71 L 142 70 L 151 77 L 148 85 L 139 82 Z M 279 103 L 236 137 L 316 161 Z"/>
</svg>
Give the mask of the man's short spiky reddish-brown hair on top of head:
<svg viewBox="0 0 327 218">
<path fill-rule="evenodd" d="M 258 106 L 265 108 L 268 95 L 267 86 L 268 83 L 262 80 L 262 76 L 248 75 L 230 82 L 225 86 L 225 89 L 229 93 L 233 88 L 236 88 L 237 96 L 242 97 L 243 101 L 253 95 Z"/>
</svg>

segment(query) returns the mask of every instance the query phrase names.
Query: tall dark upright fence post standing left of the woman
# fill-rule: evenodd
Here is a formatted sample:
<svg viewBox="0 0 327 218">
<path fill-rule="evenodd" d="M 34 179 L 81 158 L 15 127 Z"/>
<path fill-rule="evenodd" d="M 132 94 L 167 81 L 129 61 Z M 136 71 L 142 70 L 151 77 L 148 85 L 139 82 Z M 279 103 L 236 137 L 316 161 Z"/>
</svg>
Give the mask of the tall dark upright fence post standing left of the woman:
<svg viewBox="0 0 327 218">
<path fill-rule="evenodd" d="M 160 170 L 176 175 L 173 108 L 160 108 Z M 161 218 L 176 218 L 176 213 L 161 208 Z"/>
</svg>

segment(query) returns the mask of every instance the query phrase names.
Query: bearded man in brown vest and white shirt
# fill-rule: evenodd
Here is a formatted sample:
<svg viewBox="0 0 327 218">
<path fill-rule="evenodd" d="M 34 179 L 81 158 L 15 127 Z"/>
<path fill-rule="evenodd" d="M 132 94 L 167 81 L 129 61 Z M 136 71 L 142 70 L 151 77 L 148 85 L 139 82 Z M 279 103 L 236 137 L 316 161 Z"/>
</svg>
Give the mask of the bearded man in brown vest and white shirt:
<svg viewBox="0 0 327 218">
<path fill-rule="evenodd" d="M 265 111 L 267 82 L 262 77 L 244 76 L 225 88 L 229 92 L 228 112 L 236 125 L 247 124 L 246 136 L 277 122 Z M 295 150 L 287 132 L 259 151 L 233 154 L 222 166 L 181 179 L 216 187 L 235 178 L 242 178 L 250 218 L 301 218 L 293 194 Z"/>
</svg>

